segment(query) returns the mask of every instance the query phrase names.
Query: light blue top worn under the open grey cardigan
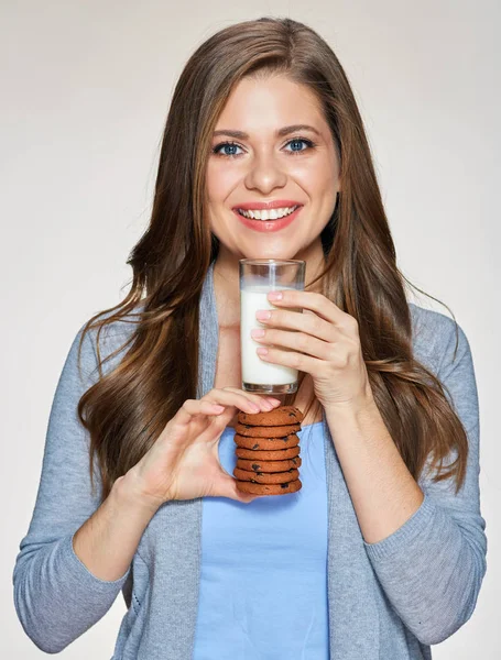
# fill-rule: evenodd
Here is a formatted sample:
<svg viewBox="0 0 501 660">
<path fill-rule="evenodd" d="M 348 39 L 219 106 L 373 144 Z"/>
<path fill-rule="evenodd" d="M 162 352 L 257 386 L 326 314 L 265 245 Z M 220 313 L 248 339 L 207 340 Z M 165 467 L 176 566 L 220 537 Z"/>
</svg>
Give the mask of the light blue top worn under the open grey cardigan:
<svg viewBox="0 0 501 660">
<path fill-rule="evenodd" d="M 323 422 L 303 428 L 297 493 L 250 504 L 204 497 L 193 660 L 328 659 L 327 484 Z M 235 429 L 219 441 L 237 463 Z"/>
</svg>

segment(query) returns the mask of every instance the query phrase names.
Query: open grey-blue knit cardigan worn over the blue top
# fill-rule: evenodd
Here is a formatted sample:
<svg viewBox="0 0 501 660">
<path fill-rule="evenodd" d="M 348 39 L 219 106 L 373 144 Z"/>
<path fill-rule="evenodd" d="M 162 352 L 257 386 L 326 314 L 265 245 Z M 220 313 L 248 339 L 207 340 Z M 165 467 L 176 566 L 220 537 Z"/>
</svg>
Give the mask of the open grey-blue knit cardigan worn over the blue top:
<svg viewBox="0 0 501 660">
<path fill-rule="evenodd" d="M 216 369 L 213 267 L 200 297 L 198 398 L 211 389 Z M 459 329 L 453 361 L 454 321 L 410 305 L 415 355 L 447 386 L 468 433 L 466 483 L 456 496 L 449 482 L 421 480 L 425 498 L 417 512 L 388 538 L 367 543 L 324 415 L 331 660 L 431 658 L 429 645 L 453 635 L 471 616 L 486 573 L 478 398 L 469 343 Z M 115 323 L 105 333 L 101 354 L 121 345 L 131 328 Z M 81 330 L 57 384 L 35 508 L 15 561 L 17 613 L 33 642 L 57 653 L 98 622 L 122 591 L 128 612 L 112 660 L 188 660 L 197 617 L 200 498 L 161 506 L 119 580 L 96 578 L 73 550 L 73 535 L 98 507 L 90 495 L 88 435 L 76 416 L 79 397 L 97 377 L 95 334 L 84 342 L 83 373 L 77 370 Z M 121 356 L 110 360 L 105 372 Z M 280 649 L 270 649 L 269 658 L 279 656 Z"/>
</svg>

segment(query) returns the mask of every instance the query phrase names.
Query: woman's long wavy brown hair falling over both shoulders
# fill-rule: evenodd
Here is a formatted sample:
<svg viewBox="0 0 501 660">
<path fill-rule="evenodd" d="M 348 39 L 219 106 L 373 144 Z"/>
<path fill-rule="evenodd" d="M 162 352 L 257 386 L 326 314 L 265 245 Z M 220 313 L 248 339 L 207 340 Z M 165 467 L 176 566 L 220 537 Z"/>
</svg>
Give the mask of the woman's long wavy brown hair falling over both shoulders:
<svg viewBox="0 0 501 660">
<path fill-rule="evenodd" d="M 246 76 L 270 74 L 287 76 L 316 95 L 340 163 L 341 191 L 322 232 L 325 268 L 306 288 L 322 278 L 324 295 L 358 320 L 377 405 L 414 479 L 429 455 L 437 469 L 435 481 L 455 477 L 456 492 L 462 485 L 466 431 L 440 382 L 413 355 L 404 290 L 409 280 L 396 267 L 369 144 L 347 76 L 312 29 L 266 16 L 219 31 L 188 59 L 163 133 L 151 220 L 127 262 L 133 272 L 130 292 L 84 328 L 81 341 L 91 328 L 98 329 L 99 378 L 81 396 L 78 416 L 90 433 L 92 488 L 95 458 L 99 464 L 101 501 L 183 403 L 196 398 L 198 304 L 219 250 L 205 220 L 211 134 L 233 86 Z M 137 320 L 128 320 L 134 314 Z M 128 349 L 119 364 L 104 374 L 101 364 L 119 351 L 101 361 L 99 336 L 105 326 L 117 321 L 134 322 L 135 328 L 119 349 Z M 287 395 L 284 403 L 294 399 L 295 395 Z M 443 471 L 443 459 L 451 450 L 457 458 Z"/>
</svg>

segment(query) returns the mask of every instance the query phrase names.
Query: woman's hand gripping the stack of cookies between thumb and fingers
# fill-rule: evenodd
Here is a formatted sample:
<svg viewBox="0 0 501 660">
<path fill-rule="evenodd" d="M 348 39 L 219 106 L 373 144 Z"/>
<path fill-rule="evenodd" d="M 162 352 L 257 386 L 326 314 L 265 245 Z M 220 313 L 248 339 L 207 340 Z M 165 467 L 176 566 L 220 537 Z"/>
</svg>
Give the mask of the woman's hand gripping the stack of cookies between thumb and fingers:
<svg viewBox="0 0 501 660">
<path fill-rule="evenodd" d="M 124 483 L 155 510 L 171 499 L 207 495 L 252 502 L 259 495 L 240 492 L 236 479 L 221 466 L 219 439 L 237 409 L 269 411 L 280 404 L 237 387 L 211 389 L 200 399 L 187 399 L 150 450 L 124 475 Z"/>
</svg>

